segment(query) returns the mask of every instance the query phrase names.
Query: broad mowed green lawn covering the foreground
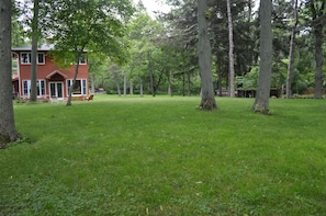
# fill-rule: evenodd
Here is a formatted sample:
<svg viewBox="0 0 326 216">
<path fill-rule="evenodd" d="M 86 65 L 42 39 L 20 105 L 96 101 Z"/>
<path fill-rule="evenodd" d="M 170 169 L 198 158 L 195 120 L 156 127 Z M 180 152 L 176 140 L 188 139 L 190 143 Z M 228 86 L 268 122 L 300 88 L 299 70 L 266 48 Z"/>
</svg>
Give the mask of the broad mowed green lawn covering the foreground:
<svg viewBox="0 0 326 216">
<path fill-rule="evenodd" d="M 15 104 L 0 215 L 326 215 L 326 101 L 216 101 Z"/>
</svg>

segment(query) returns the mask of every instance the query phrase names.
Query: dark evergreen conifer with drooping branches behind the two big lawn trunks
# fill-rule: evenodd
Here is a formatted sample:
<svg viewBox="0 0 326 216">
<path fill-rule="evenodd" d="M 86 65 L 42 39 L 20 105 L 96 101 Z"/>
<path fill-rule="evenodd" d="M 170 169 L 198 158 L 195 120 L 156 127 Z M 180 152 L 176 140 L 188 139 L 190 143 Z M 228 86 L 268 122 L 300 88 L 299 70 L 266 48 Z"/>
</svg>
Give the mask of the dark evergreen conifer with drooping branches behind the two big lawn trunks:
<svg viewBox="0 0 326 216">
<path fill-rule="evenodd" d="M 166 14 L 165 20 L 170 24 L 172 33 L 176 34 L 175 41 L 178 42 L 178 46 L 183 48 L 188 53 L 196 52 L 195 45 L 198 44 L 198 23 L 195 0 L 169 0 L 172 5 L 171 12 Z M 236 46 L 234 46 L 234 71 L 237 75 L 245 75 L 250 71 L 250 66 L 255 64 L 257 59 L 256 41 L 256 26 L 252 21 L 252 0 L 232 0 L 231 13 L 233 20 L 233 38 Z M 227 50 L 229 50 L 229 39 L 227 37 L 228 31 L 228 14 L 226 1 L 220 1 L 216 3 L 214 0 L 207 1 L 207 21 L 209 21 L 209 34 L 212 47 L 213 59 L 213 75 L 216 71 L 218 73 L 217 88 L 229 88 L 229 61 L 227 57 Z M 198 68 L 198 64 L 192 60 L 190 68 Z M 196 71 L 196 70 L 194 70 Z M 215 76 L 214 76 L 215 77 Z M 214 80 L 215 82 L 215 80 Z"/>
</svg>

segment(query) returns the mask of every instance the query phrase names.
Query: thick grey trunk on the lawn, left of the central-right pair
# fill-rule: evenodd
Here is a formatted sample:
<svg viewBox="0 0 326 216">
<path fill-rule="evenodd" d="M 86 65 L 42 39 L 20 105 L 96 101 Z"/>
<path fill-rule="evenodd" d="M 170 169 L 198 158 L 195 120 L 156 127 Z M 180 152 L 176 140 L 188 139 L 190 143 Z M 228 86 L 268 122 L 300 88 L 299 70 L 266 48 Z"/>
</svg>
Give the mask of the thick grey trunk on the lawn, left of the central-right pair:
<svg viewBox="0 0 326 216">
<path fill-rule="evenodd" d="M 199 68 L 202 80 L 202 100 L 200 107 L 203 110 L 217 109 L 214 98 L 212 78 L 212 48 L 209 38 L 207 0 L 198 0 L 199 26 Z"/>
</svg>

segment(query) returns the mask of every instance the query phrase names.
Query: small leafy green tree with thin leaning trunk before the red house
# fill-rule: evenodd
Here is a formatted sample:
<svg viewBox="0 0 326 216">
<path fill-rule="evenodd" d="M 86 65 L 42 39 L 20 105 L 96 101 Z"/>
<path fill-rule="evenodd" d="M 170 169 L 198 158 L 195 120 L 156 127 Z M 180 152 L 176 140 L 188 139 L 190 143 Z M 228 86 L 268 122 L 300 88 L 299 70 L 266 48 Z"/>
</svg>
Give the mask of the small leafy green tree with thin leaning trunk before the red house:
<svg viewBox="0 0 326 216">
<path fill-rule="evenodd" d="M 86 50 L 106 54 L 112 61 L 124 64 L 127 59 L 125 21 L 133 13 L 130 0 L 58 0 L 52 1 L 48 25 L 57 54 L 71 53 L 75 77 L 67 105 L 71 105 L 71 89 L 78 75 L 79 60 Z M 74 11 L 74 13 L 71 13 Z"/>
</svg>

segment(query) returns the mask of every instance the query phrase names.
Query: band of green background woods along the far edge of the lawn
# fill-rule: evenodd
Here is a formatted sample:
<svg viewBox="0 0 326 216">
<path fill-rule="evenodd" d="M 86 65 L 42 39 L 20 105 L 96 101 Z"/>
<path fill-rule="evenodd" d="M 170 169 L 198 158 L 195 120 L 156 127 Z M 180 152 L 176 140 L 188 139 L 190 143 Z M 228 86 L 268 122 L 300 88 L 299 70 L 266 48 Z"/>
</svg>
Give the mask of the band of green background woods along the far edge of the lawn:
<svg viewBox="0 0 326 216">
<path fill-rule="evenodd" d="M 231 5 L 229 14 L 227 2 Z M 40 1 L 41 5 L 45 3 L 45 0 Z M 123 91 L 124 94 L 145 92 L 153 95 L 200 93 L 196 2 L 167 0 L 166 3 L 171 7 L 171 11 L 166 14 L 157 13 L 156 19 L 148 15 L 142 1 L 136 4 L 136 13 L 127 22 L 128 32 L 124 35 L 130 42 L 131 54 L 125 66 L 117 66 L 116 69 L 112 67 L 114 62 L 110 58 L 99 61 L 95 55 L 89 56 L 93 90 L 104 88 L 108 93 Z M 23 16 L 31 14 L 25 11 L 26 5 L 15 8 L 20 10 L 13 13 L 13 45 L 21 44 L 22 38 L 26 38 L 19 19 L 22 19 L 22 14 Z M 234 90 L 241 92 L 257 90 L 260 31 L 257 9 L 258 5 L 254 0 L 229 0 L 217 3 L 207 1 L 205 13 L 212 46 L 213 83 L 218 95 L 225 94 L 225 90 L 228 90 L 229 94 Z M 229 18 L 232 30 L 229 30 Z M 273 32 L 271 88 L 279 90 L 277 96 L 289 89 L 291 93 L 288 96 L 314 92 L 315 98 L 322 98 L 325 87 L 323 78 L 325 1 L 273 0 L 271 20 Z M 233 59 L 229 56 L 231 31 L 234 44 Z M 289 81 L 292 32 L 295 35 L 292 43 L 295 48 L 293 48 L 291 61 L 293 66 Z M 229 76 L 231 66 L 234 67 L 233 76 Z M 285 88 L 286 79 L 288 88 Z"/>
</svg>

